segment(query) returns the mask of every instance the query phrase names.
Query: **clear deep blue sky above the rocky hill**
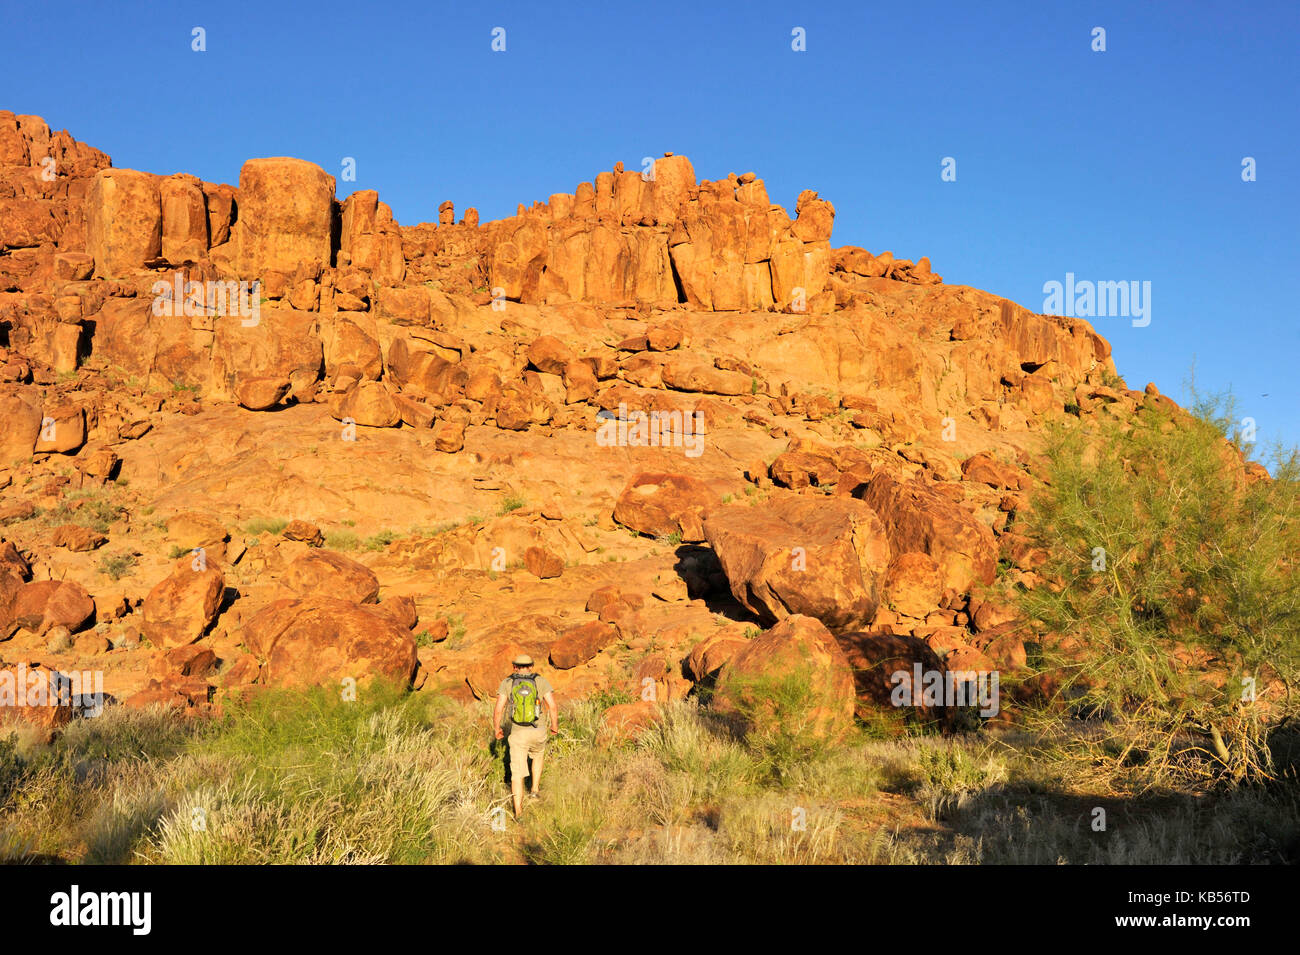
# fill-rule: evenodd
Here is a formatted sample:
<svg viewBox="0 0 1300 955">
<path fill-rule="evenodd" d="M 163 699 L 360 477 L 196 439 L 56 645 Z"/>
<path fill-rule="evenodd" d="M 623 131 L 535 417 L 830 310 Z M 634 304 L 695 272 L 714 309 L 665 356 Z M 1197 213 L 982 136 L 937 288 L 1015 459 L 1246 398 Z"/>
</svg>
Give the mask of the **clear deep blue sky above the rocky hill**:
<svg viewBox="0 0 1300 955">
<path fill-rule="evenodd" d="M 1035 311 L 1066 272 L 1149 281 L 1148 327 L 1095 320 L 1130 385 L 1179 398 L 1195 363 L 1261 442 L 1300 443 L 1297 3 L 3 9 L 0 107 L 116 166 L 238 183 L 254 156 L 335 177 L 351 156 L 341 197 L 376 188 L 413 223 L 443 199 L 486 221 L 685 153 L 702 178 L 757 172 L 790 210 L 815 188 L 836 244 L 928 255 Z"/>
</svg>

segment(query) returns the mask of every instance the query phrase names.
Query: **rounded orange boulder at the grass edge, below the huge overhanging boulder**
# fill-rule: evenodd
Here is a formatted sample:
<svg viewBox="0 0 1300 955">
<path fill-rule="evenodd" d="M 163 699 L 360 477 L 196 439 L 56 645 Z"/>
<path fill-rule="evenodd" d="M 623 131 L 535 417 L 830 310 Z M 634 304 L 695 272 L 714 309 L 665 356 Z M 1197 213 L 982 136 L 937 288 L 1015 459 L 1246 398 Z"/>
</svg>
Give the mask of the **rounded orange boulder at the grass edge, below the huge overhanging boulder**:
<svg viewBox="0 0 1300 955">
<path fill-rule="evenodd" d="M 781 683 L 790 680 L 800 690 L 806 687 L 803 712 L 779 712 L 779 700 L 786 698 Z M 727 661 L 714 706 L 755 724 L 798 719 L 801 726 L 783 728 L 833 739 L 853 725 L 853 673 L 831 631 L 812 617 L 794 615 Z"/>
</svg>

